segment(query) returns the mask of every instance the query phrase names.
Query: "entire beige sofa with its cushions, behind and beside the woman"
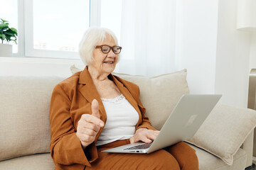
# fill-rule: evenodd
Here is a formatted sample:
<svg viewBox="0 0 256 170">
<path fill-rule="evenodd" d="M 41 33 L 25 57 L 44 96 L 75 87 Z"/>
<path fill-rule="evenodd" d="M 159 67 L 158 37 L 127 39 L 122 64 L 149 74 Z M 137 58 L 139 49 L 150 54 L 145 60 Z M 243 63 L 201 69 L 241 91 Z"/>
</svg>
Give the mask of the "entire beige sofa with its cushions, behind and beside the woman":
<svg viewBox="0 0 256 170">
<path fill-rule="evenodd" d="M 178 99 L 183 94 L 189 93 L 186 74 L 186 70 L 182 70 L 152 78 L 127 74 L 118 75 L 139 85 L 141 100 L 147 109 L 146 114 L 149 116 L 152 125 L 161 129 L 164 120 L 174 109 Z M 55 168 L 49 153 L 49 107 L 53 87 L 63 79 L 65 78 L 0 77 L 0 169 L 48 170 Z M 156 103 L 156 101 L 158 104 L 153 105 L 152 103 Z M 237 120 L 238 122 L 235 122 L 235 124 L 238 126 L 242 125 L 240 122 L 248 121 L 249 123 L 235 128 L 235 126 L 228 123 L 227 119 L 227 123 L 224 124 L 229 126 L 228 128 L 224 127 L 227 128 L 224 131 L 233 134 L 228 130 L 235 129 L 233 131 L 238 132 L 238 134 L 234 133 L 230 138 L 225 138 L 224 135 L 222 137 L 221 132 L 215 133 L 213 130 L 219 131 L 215 127 L 223 129 L 221 125 L 223 122 L 218 116 L 225 116 L 225 114 L 228 119 Z M 201 127 L 196 135 L 188 141 L 193 143 L 193 145 L 190 145 L 196 149 L 199 169 L 242 170 L 251 166 L 252 129 L 256 125 L 255 111 L 218 104 L 210 115 L 208 121 L 202 125 L 203 128 Z M 240 115 L 242 115 L 241 118 Z M 214 127 L 211 128 L 210 126 Z M 203 138 L 201 135 L 203 135 Z M 205 143 L 204 136 L 206 136 Z M 232 138 L 233 136 L 235 139 Z M 227 142 L 227 144 L 221 144 L 223 142 L 221 140 Z M 208 145 L 211 141 L 213 141 L 213 144 Z M 231 145 L 238 148 L 232 149 Z M 211 148 L 211 146 L 214 147 Z M 222 146 L 223 148 L 221 148 Z M 225 154 L 222 155 L 224 152 Z"/>
</svg>

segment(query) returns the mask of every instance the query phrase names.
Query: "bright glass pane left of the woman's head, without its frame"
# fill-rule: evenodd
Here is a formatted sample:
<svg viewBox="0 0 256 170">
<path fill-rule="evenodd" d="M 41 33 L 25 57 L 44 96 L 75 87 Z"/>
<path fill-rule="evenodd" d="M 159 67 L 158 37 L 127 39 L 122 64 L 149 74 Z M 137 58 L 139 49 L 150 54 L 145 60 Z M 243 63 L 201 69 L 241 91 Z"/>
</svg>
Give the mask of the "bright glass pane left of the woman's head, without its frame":
<svg viewBox="0 0 256 170">
<path fill-rule="evenodd" d="M 78 52 L 80 39 L 89 27 L 89 0 L 33 1 L 34 49 Z"/>
</svg>

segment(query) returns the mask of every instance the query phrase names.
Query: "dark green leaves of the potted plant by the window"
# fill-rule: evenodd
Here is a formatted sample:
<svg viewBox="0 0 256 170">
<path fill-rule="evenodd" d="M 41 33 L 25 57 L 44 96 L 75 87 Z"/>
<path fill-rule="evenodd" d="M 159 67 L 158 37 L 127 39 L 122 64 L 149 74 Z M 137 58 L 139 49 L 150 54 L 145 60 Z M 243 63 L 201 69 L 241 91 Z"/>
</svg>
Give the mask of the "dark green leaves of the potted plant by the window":
<svg viewBox="0 0 256 170">
<path fill-rule="evenodd" d="M 9 44 L 10 41 L 14 41 L 16 44 L 17 40 L 17 30 L 16 28 L 9 28 L 9 21 L 3 20 L 1 18 L 0 21 L 0 39 L 1 42 L 4 44 L 4 41 L 6 41 L 6 44 Z"/>
</svg>

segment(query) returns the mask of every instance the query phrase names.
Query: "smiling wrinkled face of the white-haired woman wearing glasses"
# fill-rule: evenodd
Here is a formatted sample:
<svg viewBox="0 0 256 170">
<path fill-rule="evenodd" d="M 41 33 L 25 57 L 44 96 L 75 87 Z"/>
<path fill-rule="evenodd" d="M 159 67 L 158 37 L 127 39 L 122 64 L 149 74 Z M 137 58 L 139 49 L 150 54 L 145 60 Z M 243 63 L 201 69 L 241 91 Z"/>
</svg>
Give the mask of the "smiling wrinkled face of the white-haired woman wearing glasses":
<svg viewBox="0 0 256 170">
<path fill-rule="evenodd" d="M 109 45 L 110 47 L 116 45 L 114 39 L 110 35 L 106 35 L 106 38 L 102 42 L 98 42 L 97 45 Z M 114 71 L 114 68 L 118 61 L 118 55 L 114 54 L 112 50 L 109 53 L 104 54 L 99 48 L 95 48 L 92 52 L 93 61 L 90 67 L 95 67 L 101 74 L 110 74 Z"/>
</svg>

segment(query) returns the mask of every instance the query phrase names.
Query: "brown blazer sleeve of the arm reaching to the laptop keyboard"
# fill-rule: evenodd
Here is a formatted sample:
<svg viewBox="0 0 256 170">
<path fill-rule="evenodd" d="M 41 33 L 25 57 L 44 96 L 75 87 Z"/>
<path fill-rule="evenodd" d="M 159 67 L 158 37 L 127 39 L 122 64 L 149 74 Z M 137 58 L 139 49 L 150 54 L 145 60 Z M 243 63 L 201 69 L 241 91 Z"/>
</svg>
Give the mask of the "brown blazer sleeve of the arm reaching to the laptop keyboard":
<svg viewBox="0 0 256 170">
<path fill-rule="evenodd" d="M 151 126 L 151 123 L 149 122 L 149 118 L 145 115 L 146 113 L 146 108 L 144 108 L 144 106 L 142 105 L 142 101 L 140 101 L 139 99 L 139 86 L 138 86 L 138 92 L 137 92 L 137 103 L 138 103 L 138 106 L 139 106 L 139 110 L 141 111 L 141 114 L 142 114 L 142 123 L 136 128 L 139 129 L 139 128 L 147 128 L 149 130 L 156 130 L 155 128 L 153 128 Z"/>
</svg>

